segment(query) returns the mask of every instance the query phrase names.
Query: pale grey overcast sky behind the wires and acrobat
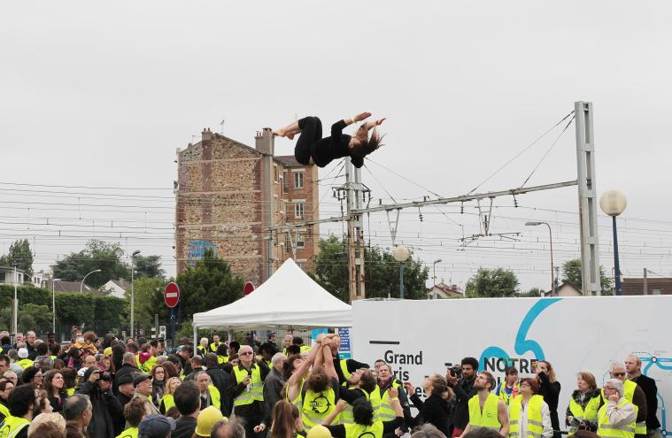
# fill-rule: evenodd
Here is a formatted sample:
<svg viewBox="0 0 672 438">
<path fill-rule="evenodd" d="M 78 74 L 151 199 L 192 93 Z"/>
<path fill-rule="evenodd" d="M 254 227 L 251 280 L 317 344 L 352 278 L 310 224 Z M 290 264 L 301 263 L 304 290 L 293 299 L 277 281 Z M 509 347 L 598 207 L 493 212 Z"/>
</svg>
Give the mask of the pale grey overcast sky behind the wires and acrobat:
<svg viewBox="0 0 672 438">
<path fill-rule="evenodd" d="M 161 255 L 174 273 L 175 148 L 203 127 L 253 145 L 259 128 L 296 116 L 387 117 L 386 146 L 362 173 L 377 204 L 465 194 L 585 100 L 599 194 L 628 197 L 622 271 L 672 275 L 671 12 L 663 1 L 5 2 L 0 252 L 27 236 L 40 269 L 96 236 Z M 562 127 L 477 192 L 520 186 Z M 572 124 L 527 186 L 575 178 Z M 321 181 L 323 217 L 340 212 L 330 186 L 342 183 Z M 557 265 L 580 257 L 576 189 L 517 201 L 496 199 L 490 227 L 521 232 L 517 242 L 460 247 L 479 233 L 473 203 L 405 211 L 398 241 L 429 265 L 441 258 L 438 280 L 463 286 L 479 266 L 502 266 L 522 290 L 547 288 L 548 231 L 524 223 L 551 223 Z M 610 273 L 611 221 L 599 216 Z M 391 246 L 385 215 L 367 221 L 367 239 Z"/>
</svg>

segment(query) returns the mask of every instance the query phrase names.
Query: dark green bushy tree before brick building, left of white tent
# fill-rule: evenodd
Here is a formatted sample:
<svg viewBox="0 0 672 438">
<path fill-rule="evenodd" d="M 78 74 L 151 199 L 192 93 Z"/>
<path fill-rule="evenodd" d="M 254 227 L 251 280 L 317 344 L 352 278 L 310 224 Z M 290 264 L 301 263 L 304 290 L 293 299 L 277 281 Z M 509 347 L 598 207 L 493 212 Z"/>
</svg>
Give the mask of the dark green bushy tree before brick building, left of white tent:
<svg viewBox="0 0 672 438">
<path fill-rule="evenodd" d="M 188 267 L 177 276 L 180 286 L 182 319 L 191 319 L 194 313 L 209 311 L 231 304 L 243 297 L 245 281 L 231 273 L 225 260 L 205 250 L 205 255 L 196 265 Z"/>
</svg>

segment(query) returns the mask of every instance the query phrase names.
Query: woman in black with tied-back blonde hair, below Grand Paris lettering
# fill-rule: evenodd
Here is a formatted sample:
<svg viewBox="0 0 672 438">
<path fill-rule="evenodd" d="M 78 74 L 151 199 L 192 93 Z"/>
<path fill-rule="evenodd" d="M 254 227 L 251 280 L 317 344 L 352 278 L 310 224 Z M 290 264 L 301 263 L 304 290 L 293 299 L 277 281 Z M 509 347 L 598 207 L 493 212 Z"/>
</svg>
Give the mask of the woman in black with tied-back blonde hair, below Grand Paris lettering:
<svg viewBox="0 0 672 438">
<path fill-rule="evenodd" d="M 448 431 L 448 421 L 451 411 L 449 403 L 454 396 L 452 389 L 448 387 L 448 382 L 440 374 L 432 374 L 422 382 L 422 389 L 427 398 L 424 402 L 415 393 L 415 388 L 410 382 L 404 383 L 406 393 L 411 395 L 411 402 L 418 410 L 418 415 L 413 418 L 409 426 L 420 426 L 423 424 L 432 424 L 440 430 L 445 436 L 451 436 Z"/>
</svg>

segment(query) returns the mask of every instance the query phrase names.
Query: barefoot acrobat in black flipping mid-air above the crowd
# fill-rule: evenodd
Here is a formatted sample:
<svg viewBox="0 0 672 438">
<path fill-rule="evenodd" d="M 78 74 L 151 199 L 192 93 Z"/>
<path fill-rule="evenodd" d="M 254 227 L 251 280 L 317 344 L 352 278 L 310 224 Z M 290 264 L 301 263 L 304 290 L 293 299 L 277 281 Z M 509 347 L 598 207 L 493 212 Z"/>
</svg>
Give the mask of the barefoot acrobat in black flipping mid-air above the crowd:
<svg viewBox="0 0 672 438">
<path fill-rule="evenodd" d="M 361 125 L 354 136 L 343 134 L 344 127 L 371 117 L 370 112 L 362 112 L 355 117 L 338 120 L 331 126 L 331 135 L 322 138 L 322 122 L 317 117 L 305 117 L 290 125 L 273 131 L 274 135 L 294 139 L 298 137 L 294 148 L 294 157 L 302 165 L 314 164 L 324 167 L 336 158 L 350 157 L 352 165 L 364 165 L 364 157 L 382 146 L 382 135 L 376 127 L 385 119 L 368 121 Z M 369 131 L 372 131 L 369 135 Z"/>
</svg>

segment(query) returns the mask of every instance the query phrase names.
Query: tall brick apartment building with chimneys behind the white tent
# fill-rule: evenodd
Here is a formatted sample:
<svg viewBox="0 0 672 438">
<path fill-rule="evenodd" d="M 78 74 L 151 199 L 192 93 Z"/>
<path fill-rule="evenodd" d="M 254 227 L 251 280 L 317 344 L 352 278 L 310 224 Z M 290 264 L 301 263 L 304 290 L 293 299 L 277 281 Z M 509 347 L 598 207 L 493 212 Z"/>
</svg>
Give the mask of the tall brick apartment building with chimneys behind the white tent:
<svg viewBox="0 0 672 438">
<path fill-rule="evenodd" d="M 254 148 L 205 129 L 200 142 L 177 150 L 177 168 L 177 273 L 208 248 L 256 285 L 289 257 L 311 269 L 319 226 L 267 228 L 319 218 L 318 168 L 275 157 L 270 129 L 256 135 Z"/>
</svg>

